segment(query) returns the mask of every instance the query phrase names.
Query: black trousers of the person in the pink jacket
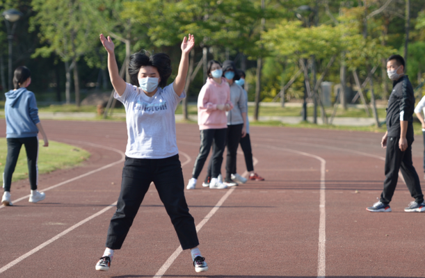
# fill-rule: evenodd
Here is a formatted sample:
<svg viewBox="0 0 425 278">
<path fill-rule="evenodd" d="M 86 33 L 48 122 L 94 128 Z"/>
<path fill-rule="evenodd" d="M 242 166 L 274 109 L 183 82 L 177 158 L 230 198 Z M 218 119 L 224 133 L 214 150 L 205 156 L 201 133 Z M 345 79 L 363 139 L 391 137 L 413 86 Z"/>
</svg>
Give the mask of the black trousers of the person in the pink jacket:
<svg viewBox="0 0 425 278">
<path fill-rule="evenodd" d="M 213 154 L 211 157 L 211 177 L 218 177 L 220 174 L 221 164 L 223 163 L 223 152 L 225 148 L 227 129 L 202 129 L 200 131 L 201 145 L 199 154 L 196 157 L 195 165 L 193 165 L 192 177 L 198 179 L 202 167 L 204 167 L 207 160 L 211 145 L 213 147 Z"/>
</svg>

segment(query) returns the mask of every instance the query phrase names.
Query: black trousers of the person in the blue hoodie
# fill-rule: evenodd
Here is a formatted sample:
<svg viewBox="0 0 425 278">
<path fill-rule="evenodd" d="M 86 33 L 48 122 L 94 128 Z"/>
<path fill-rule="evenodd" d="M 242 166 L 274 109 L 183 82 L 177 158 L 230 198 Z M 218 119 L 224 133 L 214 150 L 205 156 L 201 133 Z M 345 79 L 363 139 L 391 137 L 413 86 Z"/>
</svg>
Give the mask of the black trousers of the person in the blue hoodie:
<svg viewBox="0 0 425 278">
<path fill-rule="evenodd" d="M 8 142 L 8 155 L 6 156 L 6 165 L 3 172 L 3 188 L 4 191 L 10 192 L 10 185 L 12 184 L 13 172 L 21 151 L 22 145 L 25 146 L 26 161 L 28 163 L 28 177 L 31 190 L 37 190 L 38 183 L 38 138 L 7 138 Z"/>
</svg>

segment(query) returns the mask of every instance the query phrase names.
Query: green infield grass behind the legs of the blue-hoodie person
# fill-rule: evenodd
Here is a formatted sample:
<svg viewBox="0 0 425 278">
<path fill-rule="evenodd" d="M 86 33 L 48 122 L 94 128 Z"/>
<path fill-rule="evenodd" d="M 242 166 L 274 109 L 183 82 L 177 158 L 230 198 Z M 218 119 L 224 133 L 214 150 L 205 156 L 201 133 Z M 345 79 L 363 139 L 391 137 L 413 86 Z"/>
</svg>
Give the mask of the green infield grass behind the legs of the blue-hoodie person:
<svg viewBox="0 0 425 278">
<path fill-rule="evenodd" d="M 61 142 L 49 141 L 49 147 L 42 147 L 43 141 L 40 140 L 40 149 L 38 152 L 38 173 L 45 174 L 54 170 L 64 169 L 78 165 L 90 157 L 90 153 L 79 147 L 67 145 Z M 3 173 L 6 165 L 6 155 L 8 146 L 6 138 L 0 138 L 0 172 Z M 13 180 L 26 179 L 28 177 L 28 166 L 26 165 L 25 147 L 22 146 Z M 0 182 L 3 183 L 3 175 L 0 176 Z"/>
</svg>

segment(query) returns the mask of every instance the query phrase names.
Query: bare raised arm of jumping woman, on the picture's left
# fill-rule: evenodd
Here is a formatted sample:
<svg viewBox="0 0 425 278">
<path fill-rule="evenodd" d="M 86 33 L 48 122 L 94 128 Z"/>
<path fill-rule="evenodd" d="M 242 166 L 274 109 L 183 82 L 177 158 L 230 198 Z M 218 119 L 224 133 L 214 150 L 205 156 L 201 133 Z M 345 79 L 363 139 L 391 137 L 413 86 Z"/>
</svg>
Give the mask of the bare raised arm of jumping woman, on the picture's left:
<svg viewBox="0 0 425 278">
<path fill-rule="evenodd" d="M 115 45 L 113 44 L 111 37 L 108 36 L 108 39 L 106 39 L 103 34 L 100 34 L 100 41 L 108 52 L 108 70 L 109 77 L 111 77 L 111 83 L 118 95 L 122 96 L 127 85 L 124 79 L 121 78 L 120 72 L 118 71 L 117 60 L 115 60 L 114 52 Z"/>
</svg>

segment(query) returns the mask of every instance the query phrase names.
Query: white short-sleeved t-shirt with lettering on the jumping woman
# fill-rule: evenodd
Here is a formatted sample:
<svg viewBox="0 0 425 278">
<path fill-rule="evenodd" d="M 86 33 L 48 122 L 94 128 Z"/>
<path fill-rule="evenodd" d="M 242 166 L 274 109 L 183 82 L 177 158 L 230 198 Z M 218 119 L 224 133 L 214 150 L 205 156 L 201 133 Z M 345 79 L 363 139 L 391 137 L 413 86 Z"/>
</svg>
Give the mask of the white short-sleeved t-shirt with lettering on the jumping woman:
<svg viewBox="0 0 425 278">
<path fill-rule="evenodd" d="M 175 109 L 180 97 L 175 93 L 173 83 L 158 88 L 155 95 L 147 97 L 141 88 L 127 83 L 124 93 L 118 99 L 125 106 L 127 122 L 127 149 L 125 155 L 131 158 L 167 158 L 179 153 L 175 136 Z"/>
</svg>

